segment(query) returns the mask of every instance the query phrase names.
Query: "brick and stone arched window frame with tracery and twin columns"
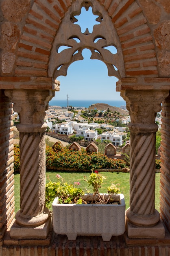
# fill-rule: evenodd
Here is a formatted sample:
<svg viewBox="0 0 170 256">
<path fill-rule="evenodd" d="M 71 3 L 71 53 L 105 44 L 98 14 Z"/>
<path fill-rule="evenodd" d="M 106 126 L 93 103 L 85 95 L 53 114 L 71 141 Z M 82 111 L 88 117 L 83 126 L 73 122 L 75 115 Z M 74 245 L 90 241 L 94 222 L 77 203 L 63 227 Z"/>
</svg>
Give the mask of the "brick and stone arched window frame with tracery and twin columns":
<svg viewBox="0 0 170 256">
<path fill-rule="evenodd" d="M 143 238 L 144 236 L 149 237 L 150 234 L 153 235 L 150 226 L 154 226 L 156 236 L 161 234 L 163 237 L 163 227 L 159 226 L 159 213 L 155 211 L 154 206 L 155 155 L 153 148 L 157 130 L 155 113 L 161 109 L 160 103 L 163 103 L 161 218 L 169 229 L 170 99 L 168 95 L 170 72 L 167 56 L 169 56 L 170 47 L 168 40 L 169 18 L 167 18 L 169 5 L 167 7 L 165 4 L 167 1 L 148 1 L 146 3 L 141 0 L 93 2 L 27 0 L 22 3 L 23 5 L 16 4 L 17 8 L 13 5 L 13 1 L 11 4 L 9 2 L 2 1 L 1 7 L 4 17 L 1 29 L 1 47 L 3 49 L 1 52 L 0 86 L 2 88 L 1 99 L 7 103 L 2 108 L 5 124 L 1 127 L 2 130 L 5 128 L 10 130 L 10 118 L 7 114 L 11 108 L 9 107 L 10 99 L 14 103 L 14 109 L 20 114 L 22 160 L 27 150 L 30 152 L 31 147 L 33 152 L 35 148 L 39 151 L 38 157 L 35 157 L 36 154 L 32 154 L 35 157 L 32 172 L 29 172 L 29 168 L 22 164 L 21 179 L 21 192 L 24 191 L 22 191 L 23 188 L 29 188 L 30 192 L 32 183 L 25 183 L 25 180 L 28 179 L 24 175 L 32 177 L 37 175 L 35 177 L 39 183 L 35 186 L 37 208 L 36 211 L 34 208 L 28 209 L 28 205 L 26 205 L 28 193 L 22 193 L 22 209 L 20 211 L 22 214 L 18 213 L 17 215 L 18 223 L 27 228 L 27 224 L 30 227 L 35 227 L 41 221 L 46 222 L 47 220 L 48 222 L 49 220 L 49 214 L 44 212 L 44 180 L 41 179 L 44 175 L 42 172 L 44 170 L 43 150 L 46 129 L 43 125 L 44 112 L 48 108 L 48 101 L 54 96 L 54 90 L 59 90 L 59 84 L 55 83 L 56 77 L 60 74 L 66 75 L 68 66 L 74 61 L 82 59 L 81 52 L 87 48 L 91 50 L 92 58 L 99 59 L 107 65 L 109 75 L 118 77 L 116 90 L 121 91 L 131 115 L 131 201 L 130 209 L 126 214 L 128 236 L 133 238 L 134 229 L 131 229 L 131 225 L 135 225 L 136 237 Z M 89 31 L 83 34 L 78 25 L 74 24 L 74 17 L 80 14 L 82 7 L 87 9 L 92 7 L 93 13 L 99 17 L 100 24 L 94 27 L 91 34 Z M 20 11 L 17 11 L 18 9 Z M 155 9 L 157 16 L 153 14 Z M 58 52 L 62 45 L 69 48 Z M 111 45 L 116 47 L 116 54 L 108 53 L 105 49 Z M 5 148 L 3 152 L 6 154 L 2 166 L 3 179 L 11 173 L 12 169 L 10 132 L 9 136 L 5 137 L 5 143 L 2 142 L 2 148 Z M 2 135 L 1 138 L 3 139 Z M 40 168 L 41 172 L 39 172 Z M 11 179 L 11 176 L 7 177 L 5 182 L 10 182 Z M 2 184 L 4 184 L 3 182 L 4 180 L 2 180 Z M 5 189 L 2 195 L 5 194 L 7 197 Z M 40 194 L 43 196 L 39 197 Z M 146 196 L 147 200 L 145 200 Z M 7 207 L 9 207 L 9 202 L 7 198 L 4 201 L 6 209 L 6 202 L 8 203 Z M 151 205 L 148 207 L 149 202 Z M 10 207 L 8 209 L 11 209 Z M 1 210 L 4 208 L 2 207 Z M 5 218 L 2 215 L 2 226 L 4 227 L 2 236 L 6 231 L 6 222 L 9 226 L 13 218 L 13 213 L 9 212 L 5 211 Z M 146 229 L 149 229 L 149 234 L 146 234 Z M 161 232 L 159 232 L 160 230 Z"/>
</svg>

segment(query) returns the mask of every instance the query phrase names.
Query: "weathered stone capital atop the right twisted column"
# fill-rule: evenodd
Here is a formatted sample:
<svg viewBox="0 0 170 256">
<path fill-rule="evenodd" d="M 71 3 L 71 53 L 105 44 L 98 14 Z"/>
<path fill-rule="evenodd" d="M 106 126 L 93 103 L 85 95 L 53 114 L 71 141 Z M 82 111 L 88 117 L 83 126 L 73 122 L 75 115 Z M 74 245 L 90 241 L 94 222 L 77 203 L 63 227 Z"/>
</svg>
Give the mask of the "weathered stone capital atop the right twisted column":
<svg viewBox="0 0 170 256">
<path fill-rule="evenodd" d="M 132 124 L 154 124 L 161 103 L 168 96 L 167 90 L 126 90 L 121 96 L 131 115 Z"/>
</svg>

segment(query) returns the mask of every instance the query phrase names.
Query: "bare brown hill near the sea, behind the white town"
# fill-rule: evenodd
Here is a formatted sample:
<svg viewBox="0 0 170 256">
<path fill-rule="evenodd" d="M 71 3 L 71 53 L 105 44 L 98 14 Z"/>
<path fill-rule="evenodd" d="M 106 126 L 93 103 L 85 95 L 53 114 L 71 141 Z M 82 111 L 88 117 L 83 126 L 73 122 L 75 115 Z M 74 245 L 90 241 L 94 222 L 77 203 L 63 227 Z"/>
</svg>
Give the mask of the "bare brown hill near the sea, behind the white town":
<svg viewBox="0 0 170 256">
<path fill-rule="evenodd" d="M 124 116 L 129 115 L 129 112 L 127 110 L 123 110 L 122 108 L 113 107 L 113 106 L 110 106 L 105 103 L 96 103 L 93 106 L 89 106 L 89 110 L 97 109 L 97 110 L 106 110 L 107 111 L 108 108 L 112 112 L 115 112 L 115 111 L 119 112 L 120 115 L 124 115 Z"/>
</svg>

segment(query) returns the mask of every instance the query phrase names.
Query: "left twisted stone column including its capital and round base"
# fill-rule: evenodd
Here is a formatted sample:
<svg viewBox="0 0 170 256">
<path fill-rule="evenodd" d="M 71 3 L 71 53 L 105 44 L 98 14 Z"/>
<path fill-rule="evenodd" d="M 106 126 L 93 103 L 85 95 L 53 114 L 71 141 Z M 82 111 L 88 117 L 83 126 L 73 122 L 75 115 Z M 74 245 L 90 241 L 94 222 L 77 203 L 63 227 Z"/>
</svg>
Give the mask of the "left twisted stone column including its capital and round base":
<svg viewBox="0 0 170 256">
<path fill-rule="evenodd" d="M 46 155 L 45 110 L 54 96 L 51 90 L 6 90 L 20 124 L 20 211 L 15 219 L 23 227 L 37 227 L 49 218 L 45 207 Z"/>
</svg>

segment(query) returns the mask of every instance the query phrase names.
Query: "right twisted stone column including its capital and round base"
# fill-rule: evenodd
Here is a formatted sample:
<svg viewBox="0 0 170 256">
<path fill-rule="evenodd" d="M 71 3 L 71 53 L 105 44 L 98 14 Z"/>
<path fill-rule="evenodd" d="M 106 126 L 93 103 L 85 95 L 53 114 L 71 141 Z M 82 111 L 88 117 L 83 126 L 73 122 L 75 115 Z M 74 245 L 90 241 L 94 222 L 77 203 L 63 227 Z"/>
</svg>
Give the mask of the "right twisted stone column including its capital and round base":
<svg viewBox="0 0 170 256">
<path fill-rule="evenodd" d="M 126 217 L 139 227 L 152 227 L 160 219 L 155 209 L 155 117 L 166 94 L 149 90 L 121 92 L 131 115 L 130 207 Z"/>
</svg>

